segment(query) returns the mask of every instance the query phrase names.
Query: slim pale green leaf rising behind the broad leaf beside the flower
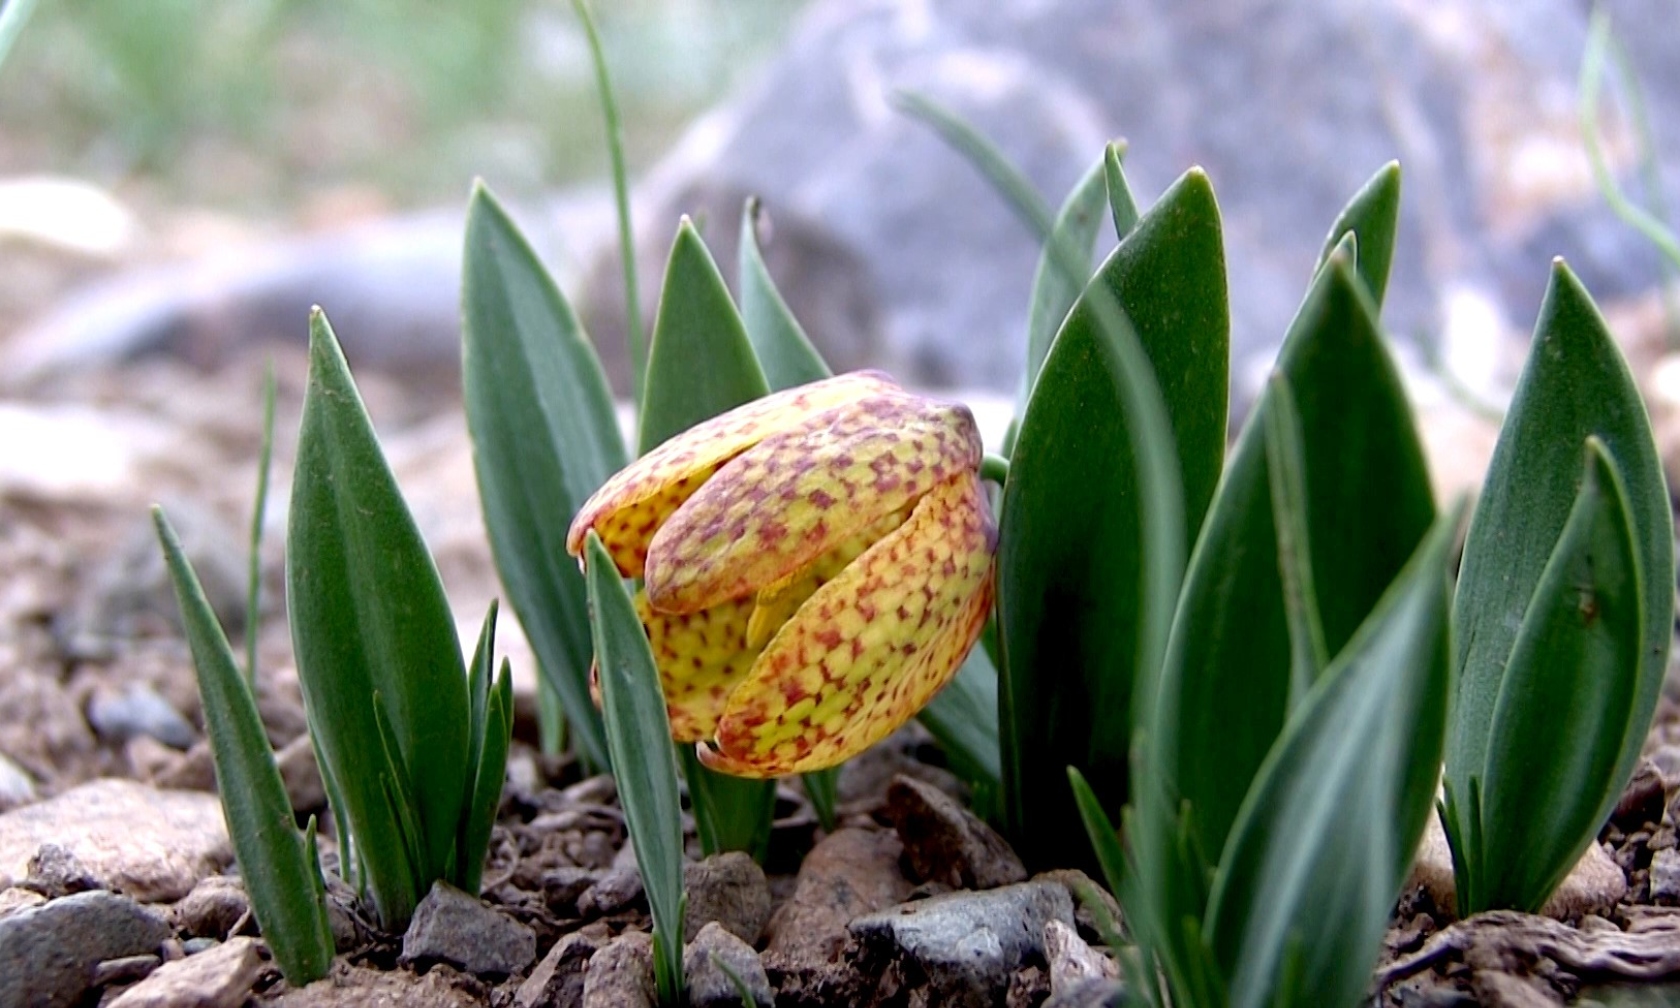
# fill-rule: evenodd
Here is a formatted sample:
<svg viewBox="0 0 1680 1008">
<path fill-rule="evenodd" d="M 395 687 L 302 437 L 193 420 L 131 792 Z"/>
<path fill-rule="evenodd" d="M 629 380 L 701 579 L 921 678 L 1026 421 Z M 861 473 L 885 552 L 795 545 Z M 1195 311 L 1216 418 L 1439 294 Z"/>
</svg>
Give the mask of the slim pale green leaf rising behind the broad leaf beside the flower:
<svg viewBox="0 0 1680 1008">
<path fill-rule="evenodd" d="M 1062 329 L 1062 321 L 1079 301 L 1080 291 L 1090 282 L 1090 247 L 1097 240 L 1102 208 L 1107 205 L 1104 181 L 1102 161 L 1097 161 L 1067 195 L 1038 254 L 1032 306 L 1026 311 L 1026 373 L 1015 396 L 1016 417 L 1026 412 L 1026 395 L 1038 380 L 1045 354 L 1050 353 L 1050 341 Z"/>
</svg>

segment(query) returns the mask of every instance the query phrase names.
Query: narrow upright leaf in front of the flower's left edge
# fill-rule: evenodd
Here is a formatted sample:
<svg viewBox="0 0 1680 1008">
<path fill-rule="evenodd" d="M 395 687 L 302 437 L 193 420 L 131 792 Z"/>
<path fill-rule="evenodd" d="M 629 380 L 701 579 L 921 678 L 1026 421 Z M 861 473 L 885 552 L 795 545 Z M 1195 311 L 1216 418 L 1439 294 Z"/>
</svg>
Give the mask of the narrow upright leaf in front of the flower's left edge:
<svg viewBox="0 0 1680 1008">
<path fill-rule="evenodd" d="M 654 914 L 655 954 L 665 959 L 659 998 L 682 998 L 682 803 L 677 761 L 670 751 L 670 719 L 659 687 L 659 669 L 647 632 L 612 554 L 591 529 L 585 543 L 590 583 L 590 627 L 600 665 L 601 714 L 613 754 L 613 778 L 625 828 L 635 848 L 647 904 Z"/>
</svg>

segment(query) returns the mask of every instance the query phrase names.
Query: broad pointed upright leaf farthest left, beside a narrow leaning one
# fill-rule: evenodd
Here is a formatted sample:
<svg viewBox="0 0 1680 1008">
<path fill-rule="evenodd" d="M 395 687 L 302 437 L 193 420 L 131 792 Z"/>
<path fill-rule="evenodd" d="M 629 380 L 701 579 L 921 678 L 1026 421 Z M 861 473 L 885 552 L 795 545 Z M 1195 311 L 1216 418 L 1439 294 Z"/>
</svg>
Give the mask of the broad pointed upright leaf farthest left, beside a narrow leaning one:
<svg viewBox="0 0 1680 1008">
<path fill-rule="evenodd" d="M 396 929 L 423 892 L 402 864 L 403 833 L 371 769 L 385 764 L 380 721 L 390 727 L 391 761 L 415 785 L 415 867 L 422 879 L 440 879 L 465 793 L 467 674 L 437 568 L 319 309 L 309 318 L 286 543 L 309 724 L 344 798 L 380 922 Z"/>
</svg>

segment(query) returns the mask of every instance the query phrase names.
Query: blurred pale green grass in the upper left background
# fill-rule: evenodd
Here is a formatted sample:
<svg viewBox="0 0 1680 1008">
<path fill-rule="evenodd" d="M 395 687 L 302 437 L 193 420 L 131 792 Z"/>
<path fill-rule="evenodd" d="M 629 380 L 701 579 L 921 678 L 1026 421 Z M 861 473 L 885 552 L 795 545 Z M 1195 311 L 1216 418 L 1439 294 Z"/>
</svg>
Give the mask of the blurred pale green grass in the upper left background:
<svg viewBox="0 0 1680 1008">
<path fill-rule="evenodd" d="M 769 55 L 805 0 L 596 0 L 633 165 Z M 0 71 L 0 175 L 291 215 L 605 175 L 566 0 L 42 0 Z M 150 202 L 146 200 L 146 202 Z"/>
</svg>

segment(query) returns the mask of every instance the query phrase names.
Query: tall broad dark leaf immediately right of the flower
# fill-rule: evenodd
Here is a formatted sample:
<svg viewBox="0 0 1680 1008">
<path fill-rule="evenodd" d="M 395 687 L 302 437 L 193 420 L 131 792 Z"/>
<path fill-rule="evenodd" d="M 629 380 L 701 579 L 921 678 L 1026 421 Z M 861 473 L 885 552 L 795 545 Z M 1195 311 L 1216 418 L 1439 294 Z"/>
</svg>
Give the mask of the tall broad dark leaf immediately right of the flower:
<svg viewBox="0 0 1680 1008">
<path fill-rule="evenodd" d="M 1117 356 L 1129 328 L 1136 361 Z M 1003 489 L 1000 736 L 1006 822 L 1032 865 L 1087 858 L 1068 766 L 1084 768 L 1105 808 L 1124 803 L 1134 675 L 1154 679 L 1184 529 L 1200 524 L 1225 455 L 1226 339 L 1218 208 L 1206 176 L 1191 171 L 1063 324 Z M 1168 422 L 1144 455 L 1137 442 L 1154 428 L 1134 383 L 1158 383 L 1149 391 Z M 1151 524 L 1163 519 L 1169 541 L 1164 524 Z"/>
</svg>

